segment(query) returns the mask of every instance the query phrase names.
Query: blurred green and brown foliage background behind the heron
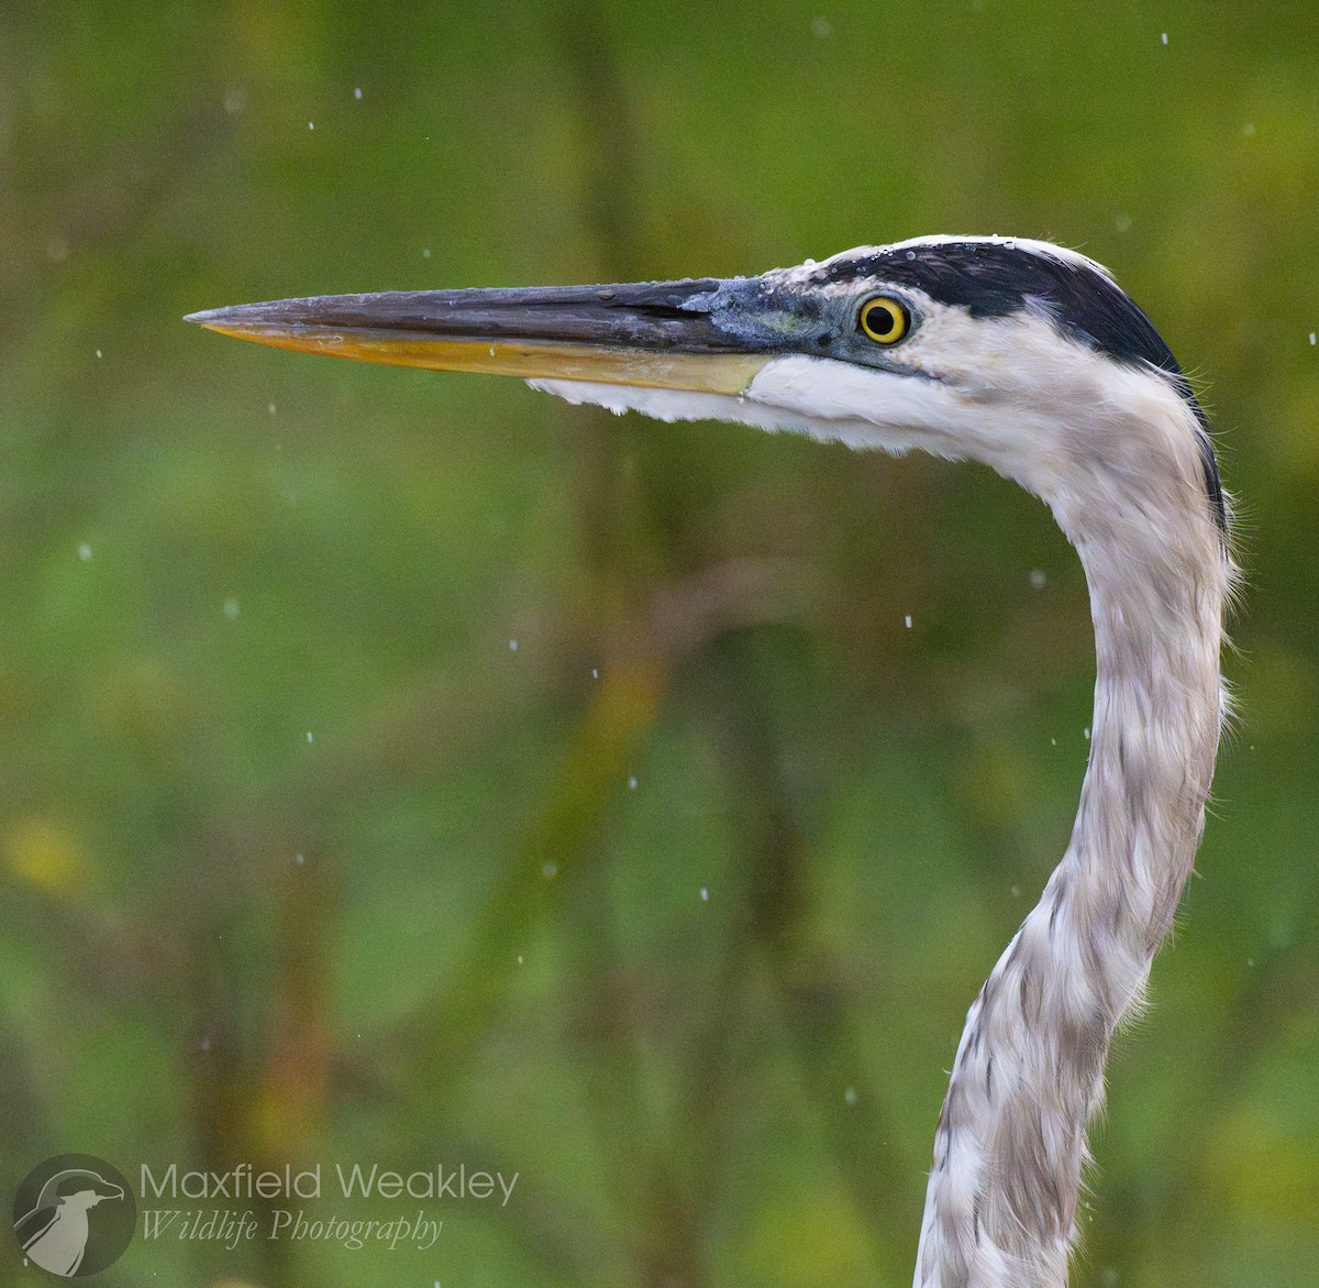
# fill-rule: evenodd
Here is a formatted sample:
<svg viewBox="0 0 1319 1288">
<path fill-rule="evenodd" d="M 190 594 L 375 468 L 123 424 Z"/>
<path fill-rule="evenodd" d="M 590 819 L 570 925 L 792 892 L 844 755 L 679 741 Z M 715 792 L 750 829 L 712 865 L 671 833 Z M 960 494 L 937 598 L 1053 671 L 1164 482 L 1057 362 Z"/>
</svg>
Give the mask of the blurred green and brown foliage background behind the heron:
<svg viewBox="0 0 1319 1288">
<path fill-rule="evenodd" d="M 1043 507 L 179 318 L 1013 232 L 1204 383 L 1249 577 L 1075 1283 L 1319 1281 L 1316 49 L 1312 3 L 4 4 L 5 1194 L 518 1173 L 404 1205 L 425 1254 L 138 1240 L 115 1288 L 907 1283 L 1086 763 Z"/>
</svg>

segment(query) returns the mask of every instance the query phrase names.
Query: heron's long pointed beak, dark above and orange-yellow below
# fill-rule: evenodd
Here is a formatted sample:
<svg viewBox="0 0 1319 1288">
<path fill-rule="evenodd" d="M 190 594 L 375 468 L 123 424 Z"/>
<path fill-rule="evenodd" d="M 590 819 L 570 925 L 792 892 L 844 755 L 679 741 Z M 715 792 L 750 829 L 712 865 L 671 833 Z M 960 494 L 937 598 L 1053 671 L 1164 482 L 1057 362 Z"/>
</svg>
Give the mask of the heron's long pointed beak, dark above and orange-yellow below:
<svg viewBox="0 0 1319 1288">
<path fill-rule="evenodd" d="M 277 300 L 194 313 L 222 335 L 396 367 L 741 393 L 773 356 L 727 326 L 758 278 L 423 290 Z"/>
</svg>

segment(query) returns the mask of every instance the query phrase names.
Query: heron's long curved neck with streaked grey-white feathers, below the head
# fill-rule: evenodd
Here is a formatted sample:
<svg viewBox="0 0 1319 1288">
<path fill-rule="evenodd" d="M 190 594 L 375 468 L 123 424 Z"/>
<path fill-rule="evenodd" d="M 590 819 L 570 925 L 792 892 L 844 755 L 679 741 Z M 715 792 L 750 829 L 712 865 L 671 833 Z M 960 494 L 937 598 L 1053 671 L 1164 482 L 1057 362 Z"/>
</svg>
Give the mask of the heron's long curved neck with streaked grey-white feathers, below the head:
<svg viewBox="0 0 1319 1288">
<path fill-rule="evenodd" d="M 967 1016 L 917 1288 L 1067 1283 L 1109 1041 L 1171 924 L 1213 772 L 1229 573 L 1212 524 L 1054 508 L 1091 591 L 1089 764 L 1067 853 Z M 1170 531 L 1187 536 L 1170 545 Z"/>
</svg>

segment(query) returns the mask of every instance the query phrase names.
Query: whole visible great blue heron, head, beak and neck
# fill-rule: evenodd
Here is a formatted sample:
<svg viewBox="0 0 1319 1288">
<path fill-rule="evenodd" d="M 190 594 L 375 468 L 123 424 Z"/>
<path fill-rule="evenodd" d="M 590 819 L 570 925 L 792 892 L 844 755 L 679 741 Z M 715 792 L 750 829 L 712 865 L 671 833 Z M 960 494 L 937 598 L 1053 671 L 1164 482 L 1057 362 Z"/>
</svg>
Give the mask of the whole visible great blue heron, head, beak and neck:
<svg viewBox="0 0 1319 1288">
<path fill-rule="evenodd" d="M 1097 680 L 1071 842 L 967 1016 L 917 1288 L 1067 1281 L 1086 1130 L 1204 823 L 1233 565 L 1204 413 L 1105 269 L 1017 238 L 919 238 L 758 277 L 282 300 L 212 330 L 522 376 L 570 402 L 992 466 L 1089 586 Z"/>
</svg>

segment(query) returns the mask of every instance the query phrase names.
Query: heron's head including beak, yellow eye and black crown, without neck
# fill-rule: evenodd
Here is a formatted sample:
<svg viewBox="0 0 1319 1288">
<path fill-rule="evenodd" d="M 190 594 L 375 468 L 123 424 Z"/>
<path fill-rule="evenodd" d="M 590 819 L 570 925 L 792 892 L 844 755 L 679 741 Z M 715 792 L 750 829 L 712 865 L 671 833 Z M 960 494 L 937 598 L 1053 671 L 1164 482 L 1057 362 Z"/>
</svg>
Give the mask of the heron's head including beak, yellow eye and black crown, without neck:
<svg viewBox="0 0 1319 1288">
<path fill-rule="evenodd" d="M 191 321 L 307 352 L 521 376 L 615 412 L 967 457 L 1055 512 L 1150 470 L 1188 476 L 1225 521 L 1171 351 L 1105 269 L 1042 242 L 921 238 L 756 277 L 322 296 Z"/>
</svg>

